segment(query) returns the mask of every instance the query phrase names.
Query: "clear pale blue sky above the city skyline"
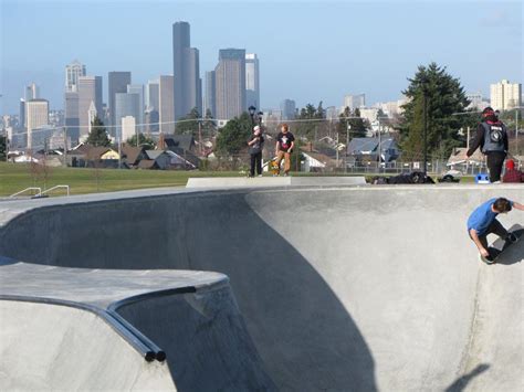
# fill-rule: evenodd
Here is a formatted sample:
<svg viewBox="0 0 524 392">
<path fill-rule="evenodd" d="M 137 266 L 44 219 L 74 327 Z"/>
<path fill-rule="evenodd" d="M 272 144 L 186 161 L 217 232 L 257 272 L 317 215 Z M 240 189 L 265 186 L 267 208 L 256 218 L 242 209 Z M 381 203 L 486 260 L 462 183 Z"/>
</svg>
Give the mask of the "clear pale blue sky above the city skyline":
<svg viewBox="0 0 524 392">
<path fill-rule="evenodd" d="M 218 51 L 245 49 L 260 60 L 262 108 L 396 100 L 419 65 L 437 62 L 467 92 L 523 82 L 522 1 L 38 1 L 0 0 L 0 114 L 17 114 L 35 82 L 63 108 L 65 65 L 87 75 L 130 71 L 134 84 L 172 74 L 172 23 L 191 25 L 200 74 Z"/>
</svg>

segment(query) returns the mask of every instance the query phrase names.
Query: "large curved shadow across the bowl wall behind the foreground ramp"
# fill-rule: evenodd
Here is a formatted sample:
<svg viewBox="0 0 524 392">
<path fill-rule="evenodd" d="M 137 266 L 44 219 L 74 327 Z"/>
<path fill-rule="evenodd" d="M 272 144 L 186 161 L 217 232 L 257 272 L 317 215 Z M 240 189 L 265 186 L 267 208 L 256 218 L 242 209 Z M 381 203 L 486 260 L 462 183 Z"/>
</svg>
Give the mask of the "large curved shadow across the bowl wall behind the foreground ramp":
<svg viewBox="0 0 524 392">
<path fill-rule="evenodd" d="M 352 316 L 242 192 L 48 208 L 10 222 L 0 240 L 0 254 L 31 263 L 224 273 L 279 389 L 377 390 L 371 352 Z"/>
</svg>

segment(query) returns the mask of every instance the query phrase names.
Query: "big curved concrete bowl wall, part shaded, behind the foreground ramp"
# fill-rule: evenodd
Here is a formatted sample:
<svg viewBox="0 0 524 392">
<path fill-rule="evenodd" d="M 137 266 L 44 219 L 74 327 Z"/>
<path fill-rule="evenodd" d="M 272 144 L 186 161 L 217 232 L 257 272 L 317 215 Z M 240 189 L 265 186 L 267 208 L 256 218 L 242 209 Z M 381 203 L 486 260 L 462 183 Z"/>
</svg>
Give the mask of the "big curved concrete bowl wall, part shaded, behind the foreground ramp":
<svg viewBox="0 0 524 392">
<path fill-rule="evenodd" d="M 524 242 L 488 266 L 465 229 L 499 195 L 522 202 L 524 192 L 317 187 L 17 204 L 0 254 L 223 273 L 280 390 L 522 391 Z M 522 225 L 524 213 L 500 220 Z"/>
</svg>

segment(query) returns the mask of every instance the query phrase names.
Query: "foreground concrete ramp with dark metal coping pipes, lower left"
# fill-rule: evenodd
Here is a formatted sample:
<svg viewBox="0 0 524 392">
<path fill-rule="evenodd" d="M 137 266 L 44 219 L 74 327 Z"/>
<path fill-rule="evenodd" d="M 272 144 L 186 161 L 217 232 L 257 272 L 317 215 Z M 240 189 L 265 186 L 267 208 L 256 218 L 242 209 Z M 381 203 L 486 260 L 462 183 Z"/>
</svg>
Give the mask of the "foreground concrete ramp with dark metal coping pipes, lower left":
<svg viewBox="0 0 524 392">
<path fill-rule="evenodd" d="M 221 274 L 3 263 L 0 299 L 2 390 L 275 389 Z"/>
</svg>

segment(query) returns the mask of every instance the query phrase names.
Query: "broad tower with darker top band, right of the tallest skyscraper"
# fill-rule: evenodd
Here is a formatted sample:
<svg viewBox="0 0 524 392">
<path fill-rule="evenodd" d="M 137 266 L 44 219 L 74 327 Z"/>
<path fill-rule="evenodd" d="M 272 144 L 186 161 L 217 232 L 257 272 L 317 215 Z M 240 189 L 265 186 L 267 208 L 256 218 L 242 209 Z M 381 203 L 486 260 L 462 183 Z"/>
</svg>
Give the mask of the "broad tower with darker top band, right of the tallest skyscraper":
<svg viewBox="0 0 524 392">
<path fill-rule="evenodd" d="M 218 119 L 231 119 L 245 110 L 245 50 L 221 49 L 214 68 Z"/>
</svg>

